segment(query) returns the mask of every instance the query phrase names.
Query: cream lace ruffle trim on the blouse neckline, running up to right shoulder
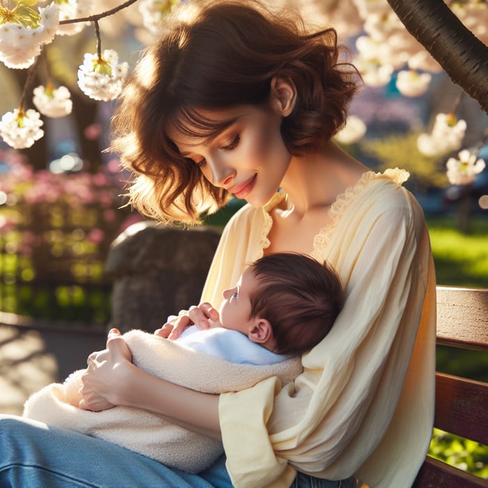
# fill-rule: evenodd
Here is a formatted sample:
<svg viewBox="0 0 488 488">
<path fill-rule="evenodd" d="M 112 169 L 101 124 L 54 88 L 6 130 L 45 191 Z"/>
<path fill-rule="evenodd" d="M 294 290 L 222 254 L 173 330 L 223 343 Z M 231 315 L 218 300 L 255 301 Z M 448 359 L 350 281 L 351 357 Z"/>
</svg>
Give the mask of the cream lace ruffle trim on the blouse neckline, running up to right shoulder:
<svg viewBox="0 0 488 488">
<path fill-rule="evenodd" d="M 405 171 L 404 169 L 399 168 L 386 169 L 386 171 L 384 171 L 383 173 L 366 171 L 355 185 L 346 188 L 344 193 L 337 195 L 335 202 L 330 206 L 329 209 L 329 215 L 332 222 L 326 227 L 323 227 L 319 231 L 319 234 L 315 236 L 312 257 L 315 257 L 316 259 L 321 258 L 321 254 L 328 242 L 330 241 L 330 236 L 332 236 L 337 222 L 340 220 L 351 201 L 356 197 L 356 195 L 363 191 L 368 183 L 375 180 L 376 178 L 390 178 L 392 181 L 395 181 L 397 185 L 402 185 L 402 183 L 409 179 L 409 176 L 409 171 Z"/>
</svg>

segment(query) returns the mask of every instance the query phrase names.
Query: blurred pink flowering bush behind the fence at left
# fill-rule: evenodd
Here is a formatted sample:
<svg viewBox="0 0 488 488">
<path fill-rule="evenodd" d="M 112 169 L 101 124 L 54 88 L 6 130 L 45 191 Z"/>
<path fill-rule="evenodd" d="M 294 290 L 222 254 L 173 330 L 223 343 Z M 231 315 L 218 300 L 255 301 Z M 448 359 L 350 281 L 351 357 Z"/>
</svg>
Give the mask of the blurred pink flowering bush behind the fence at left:
<svg viewBox="0 0 488 488">
<path fill-rule="evenodd" d="M 0 151 L 0 163 L 0 310 L 106 323 L 109 245 L 128 218 L 138 218 L 121 208 L 118 166 L 96 174 L 33 171 L 13 150 Z M 36 298 L 41 284 L 52 296 Z M 26 286 L 29 293 L 20 293 Z M 90 298 L 93 289 L 102 296 Z"/>
</svg>

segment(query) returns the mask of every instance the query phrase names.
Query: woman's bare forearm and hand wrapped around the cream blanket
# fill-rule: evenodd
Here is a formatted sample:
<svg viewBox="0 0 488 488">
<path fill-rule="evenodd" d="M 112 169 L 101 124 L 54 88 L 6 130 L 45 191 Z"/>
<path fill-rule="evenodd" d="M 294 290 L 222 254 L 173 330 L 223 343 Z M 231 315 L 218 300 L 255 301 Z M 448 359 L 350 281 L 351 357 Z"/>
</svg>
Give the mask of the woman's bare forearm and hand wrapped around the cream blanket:
<svg viewBox="0 0 488 488">
<path fill-rule="evenodd" d="M 82 376 L 80 408 L 98 411 L 118 405 L 143 409 L 197 434 L 221 439 L 218 395 L 158 379 L 133 365 L 131 359 L 119 330 L 112 329 L 107 349 L 89 357 Z"/>
</svg>

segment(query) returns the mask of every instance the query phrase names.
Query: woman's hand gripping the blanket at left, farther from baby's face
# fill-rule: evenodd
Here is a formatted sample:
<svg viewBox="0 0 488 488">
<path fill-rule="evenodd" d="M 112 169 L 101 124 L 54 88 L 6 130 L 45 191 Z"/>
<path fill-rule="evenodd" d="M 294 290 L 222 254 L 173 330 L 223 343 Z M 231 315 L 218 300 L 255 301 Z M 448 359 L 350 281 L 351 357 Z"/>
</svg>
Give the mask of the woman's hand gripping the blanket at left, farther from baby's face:
<svg viewBox="0 0 488 488">
<path fill-rule="evenodd" d="M 82 376 L 83 386 L 79 389 L 83 396 L 79 408 L 100 411 L 118 405 L 128 367 L 132 367 L 131 361 L 132 354 L 119 330 L 110 330 L 107 349 L 88 357 L 88 368 Z"/>
</svg>

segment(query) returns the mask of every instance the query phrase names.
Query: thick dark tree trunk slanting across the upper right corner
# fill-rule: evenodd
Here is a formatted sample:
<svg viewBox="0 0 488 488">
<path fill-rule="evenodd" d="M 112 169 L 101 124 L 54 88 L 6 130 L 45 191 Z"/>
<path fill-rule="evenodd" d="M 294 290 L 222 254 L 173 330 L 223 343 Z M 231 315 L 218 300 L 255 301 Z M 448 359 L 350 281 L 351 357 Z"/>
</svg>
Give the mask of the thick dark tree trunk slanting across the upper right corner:
<svg viewBox="0 0 488 488">
<path fill-rule="evenodd" d="M 488 47 L 443 0 L 388 0 L 407 31 L 488 112 Z"/>
</svg>

